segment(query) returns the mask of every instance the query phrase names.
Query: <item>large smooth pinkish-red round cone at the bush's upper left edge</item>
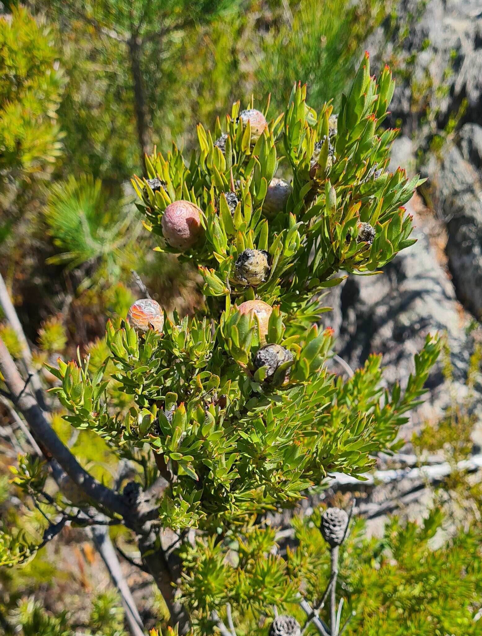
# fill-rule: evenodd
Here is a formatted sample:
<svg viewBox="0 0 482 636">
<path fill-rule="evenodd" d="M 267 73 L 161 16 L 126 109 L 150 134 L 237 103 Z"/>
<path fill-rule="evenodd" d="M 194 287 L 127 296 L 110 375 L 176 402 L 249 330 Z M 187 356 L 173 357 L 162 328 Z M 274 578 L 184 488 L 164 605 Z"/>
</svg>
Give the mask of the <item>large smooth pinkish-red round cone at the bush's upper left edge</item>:
<svg viewBox="0 0 482 636">
<path fill-rule="evenodd" d="M 196 243 L 201 226 L 201 210 L 190 201 L 175 201 L 164 210 L 161 225 L 171 247 L 184 251 Z"/>
</svg>

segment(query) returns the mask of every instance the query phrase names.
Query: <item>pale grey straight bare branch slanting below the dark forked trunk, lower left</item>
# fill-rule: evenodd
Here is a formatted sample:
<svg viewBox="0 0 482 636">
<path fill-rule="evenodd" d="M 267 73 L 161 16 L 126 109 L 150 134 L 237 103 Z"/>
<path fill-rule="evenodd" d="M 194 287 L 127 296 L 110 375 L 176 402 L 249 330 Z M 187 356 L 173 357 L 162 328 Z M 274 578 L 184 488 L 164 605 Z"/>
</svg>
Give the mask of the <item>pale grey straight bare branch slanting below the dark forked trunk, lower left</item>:
<svg viewBox="0 0 482 636">
<path fill-rule="evenodd" d="M 144 625 L 130 588 L 122 573 L 121 564 L 117 558 L 112 541 L 110 541 L 109 529 L 104 526 L 93 526 L 89 528 L 87 532 L 92 537 L 95 547 L 100 556 L 102 556 L 107 570 L 109 570 L 112 583 L 114 583 L 117 590 L 119 590 L 131 635 L 144 636 Z"/>
</svg>

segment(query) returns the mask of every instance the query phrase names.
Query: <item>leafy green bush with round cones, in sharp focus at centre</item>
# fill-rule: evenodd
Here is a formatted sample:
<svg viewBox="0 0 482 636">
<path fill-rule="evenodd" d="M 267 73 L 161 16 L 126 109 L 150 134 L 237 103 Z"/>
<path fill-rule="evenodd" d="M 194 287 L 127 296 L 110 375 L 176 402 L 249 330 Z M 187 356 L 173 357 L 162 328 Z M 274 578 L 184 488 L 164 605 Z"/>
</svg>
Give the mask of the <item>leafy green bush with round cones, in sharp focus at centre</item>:
<svg viewBox="0 0 482 636">
<path fill-rule="evenodd" d="M 330 473 L 358 476 L 391 452 L 439 353 L 427 336 L 405 391 L 390 394 L 377 356 L 354 378 L 330 373 L 333 331 L 320 326 L 325 289 L 376 272 L 413 243 L 403 205 L 420 182 L 387 172 L 396 131 L 380 127 L 393 88 L 388 69 L 370 76 L 367 55 L 335 100 L 337 118 L 331 102 L 307 104 L 298 84 L 285 113 L 251 99 L 244 110 L 233 104 L 213 132 L 199 124 L 189 159 L 175 145 L 146 156 L 147 179 L 132 182 L 145 228 L 158 251 L 197 267 L 204 305 L 181 317 L 140 299 L 126 321 L 107 323 L 104 364 L 91 370 L 79 354 L 50 368 L 65 419 L 143 467 L 113 490 L 49 438 L 91 505 L 137 543 L 179 633 L 300 636 L 312 627 L 338 636 L 354 611 L 354 601 L 336 598 L 344 511 L 321 516 L 328 584 L 307 586 L 304 544 L 282 556 L 276 531 L 258 521 L 294 508 Z M 6 356 L 0 370 L 16 391 L 22 383 L 11 382 Z M 46 434 L 25 396 L 17 403 L 32 431 Z M 26 462 L 17 481 L 32 492 L 37 473 Z M 12 547 L 11 560 L 34 551 Z"/>
</svg>

